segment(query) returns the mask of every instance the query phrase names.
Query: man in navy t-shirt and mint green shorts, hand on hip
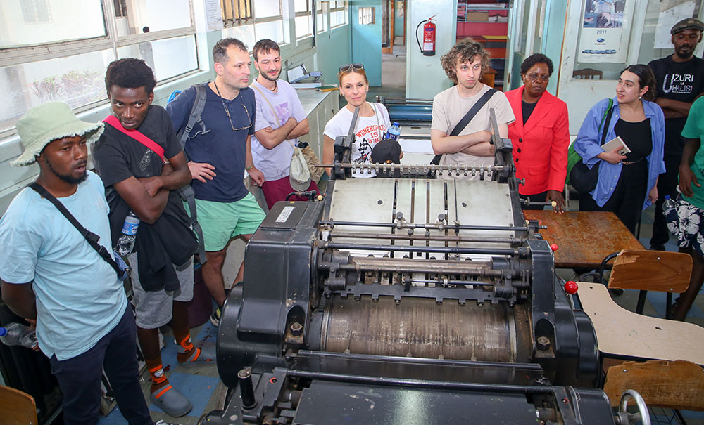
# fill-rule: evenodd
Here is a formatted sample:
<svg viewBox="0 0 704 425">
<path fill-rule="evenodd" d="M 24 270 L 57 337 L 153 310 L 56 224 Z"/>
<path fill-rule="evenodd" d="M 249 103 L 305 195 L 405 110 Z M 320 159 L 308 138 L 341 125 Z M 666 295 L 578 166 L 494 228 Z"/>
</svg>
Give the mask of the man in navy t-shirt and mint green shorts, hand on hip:
<svg viewBox="0 0 704 425">
<path fill-rule="evenodd" d="M 253 184 L 264 183 L 250 146 L 256 103 L 253 90 L 248 87 L 249 53 L 238 39 L 222 39 L 213 47 L 213 61 L 215 80 L 187 89 L 166 110 L 174 129 L 182 135 L 189 158 L 206 250 L 203 280 L 219 306 L 210 321 L 218 325 L 225 303 L 222 265 L 227 244 L 237 236 L 249 241 L 265 214 L 243 180 L 246 172 Z M 201 102 L 199 93 L 205 93 L 200 112 L 196 107 Z M 244 263 L 234 282 L 241 282 L 243 277 Z"/>
</svg>

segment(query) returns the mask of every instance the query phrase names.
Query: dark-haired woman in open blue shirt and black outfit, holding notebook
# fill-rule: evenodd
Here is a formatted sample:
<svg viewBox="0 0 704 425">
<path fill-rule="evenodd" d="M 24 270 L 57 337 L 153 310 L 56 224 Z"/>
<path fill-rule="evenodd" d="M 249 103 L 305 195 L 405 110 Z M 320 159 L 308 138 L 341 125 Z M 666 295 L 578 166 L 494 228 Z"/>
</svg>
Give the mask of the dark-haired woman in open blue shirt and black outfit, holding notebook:
<svg viewBox="0 0 704 425">
<path fill-rule="evenodd" d="M 608 99 L 594 105 L 586 115 L 574 150 L 584 164 L 599 167 L 596 188 L 579 198 L 581 211 L 612 211 L 635 233 L 642 209 L 658 199 L 658 175 L 665 172 L 662 149 L 665 143 L 665 117 L 653 100 L 655 77 L 646 65 L 629 65 L 619 77 L 616 98 L 606 138 L 620 136 L 631 150 L 601 148 L 602 117 Z"/>
</svg>

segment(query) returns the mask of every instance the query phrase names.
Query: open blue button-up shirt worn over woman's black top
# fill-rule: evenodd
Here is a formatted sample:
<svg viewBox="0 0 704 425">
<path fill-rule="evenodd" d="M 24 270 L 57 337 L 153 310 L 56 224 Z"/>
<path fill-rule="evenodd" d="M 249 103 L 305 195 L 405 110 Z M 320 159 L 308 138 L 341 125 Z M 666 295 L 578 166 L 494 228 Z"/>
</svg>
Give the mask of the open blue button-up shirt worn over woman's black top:
<svg viewBox="0 0 704 425">
<path fill-rule="evenodd" d="M 606 140 L 609 141 L 616 137 L 614 126 L 621 116 L 618 101 L 614 101 L 614 112 L 609 122 L 609 128 L 606 133 Z M 589 192 L 599 207 L 603 207 L 609 200 L 616 188 L 616 183 L 621 176 L 622 164 L 610 164 L 602 159 L 598 159 L 596 155 L 604 152 L 601 149 L 601 131 L 599 124 L 604 116 L 604 112 L 609 106 L 609 100 L 600 100 L 587 112 L 582 128 L 579 129 L 577 138 L 574 140 L 574 150 L 582 157 L 584 164 L 589 166 L 589 169 L 601 162 L 599 168 L 599 180 L 596 183 L 596 188 Z M 643 110 L 646 118 L 650 118 L 650 131 L 653 134 L 653 150 L 646 157 L 648 162 L 648 191 L 646 192 L 646 200 L 643 202 L 643 209 L 650 205 L 648 200 L 648 192 L 653 189 L 655 183 L 658 182 L 658 176 L 665 172 L 665 162 L 662 160 L 662 150 L 665 146 L 665 116 L 662 115 L 662 109 L 657 103 L 643 100 Z"/>
</svg>

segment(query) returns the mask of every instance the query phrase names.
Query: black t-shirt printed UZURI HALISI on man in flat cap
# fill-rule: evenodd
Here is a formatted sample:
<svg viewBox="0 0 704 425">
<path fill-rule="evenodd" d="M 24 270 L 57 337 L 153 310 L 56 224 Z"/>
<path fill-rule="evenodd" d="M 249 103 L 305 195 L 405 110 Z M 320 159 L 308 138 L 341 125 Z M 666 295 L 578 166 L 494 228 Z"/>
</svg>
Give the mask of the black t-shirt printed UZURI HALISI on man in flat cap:
<svg viewBox="0 0 704 425">
<path fill-rule="evenodd" d="M 658 97 L 692 103 L 704 92 L 704 60 L 693 57 L 675 62 L 672 56 L 653 60 L 648 66 L 655 74 Z M 665 156 L 681 157 L 684 140 L 680 134 L 686 118 L 665 119 Z"/>
</svg>

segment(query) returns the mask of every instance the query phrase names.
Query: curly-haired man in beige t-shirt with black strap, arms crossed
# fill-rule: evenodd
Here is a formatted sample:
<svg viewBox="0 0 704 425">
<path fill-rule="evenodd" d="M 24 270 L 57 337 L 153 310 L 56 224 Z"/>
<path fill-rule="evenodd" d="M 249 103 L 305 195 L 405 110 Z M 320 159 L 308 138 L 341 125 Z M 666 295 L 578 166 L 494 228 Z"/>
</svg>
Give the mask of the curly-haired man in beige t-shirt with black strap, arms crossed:
<svg viewBox="0 0 704 425">
<path fill-rule="evenodd" d="M 491 89 L 479 82 L 482 72 L 489 69 L 489 52 L 482 44 L 467 38 L 458 41 L 440 58 L 445 73 L 455 86 L 441 91 L 433 98 L 430 140 L 436 155 L 442 155 L 441 165 L 467 164 L 487 166 L 494 164 L 494 145 L 491 140 L 489 110 L 494 109 L 499 136 L 508 137 L 508 124 L 515 120 L 513 110 L 500 91 L 494 91 L 470 122 L 457 136 L 450 136 L 455 126 L 484 93 Z M 451 176 L 444 178 L 479 179 L 476 176 Z"/>
</svg>

